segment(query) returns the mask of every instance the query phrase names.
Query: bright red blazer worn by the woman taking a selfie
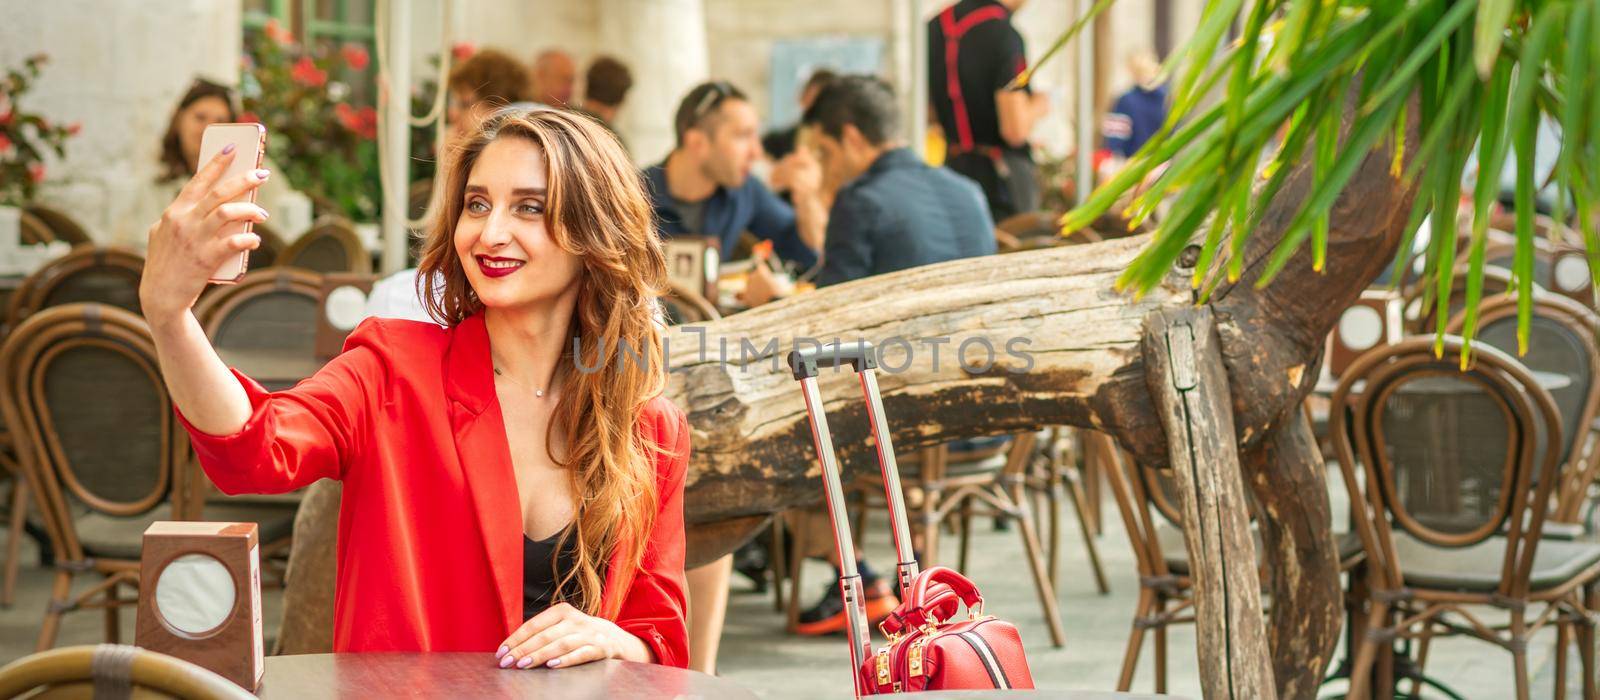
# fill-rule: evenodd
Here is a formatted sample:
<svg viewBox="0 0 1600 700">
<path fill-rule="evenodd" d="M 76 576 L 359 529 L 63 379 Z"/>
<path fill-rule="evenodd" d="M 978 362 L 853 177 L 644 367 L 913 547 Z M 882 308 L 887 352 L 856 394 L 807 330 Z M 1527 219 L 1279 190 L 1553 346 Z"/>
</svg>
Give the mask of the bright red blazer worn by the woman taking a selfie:
<svg viewBox="0 0 1600 700">
<path fill-rule="evenodd" d="M 522 625 L 522 507 L 494 395 L 488 331 L 366 320 L 344 353 L 286 392 L 238 374 L 253 414 L 229 436 L 189 430 L 226 494 L 344 481 L 336 652 L 494 652 Z M 182 419 L 182 416 L 179 416 Z M 643 563 L 606 566 L 603 611 L 656 662 L 688 665 L 683 598 L 683 414 L 654 398 L 640 430 L 661 510 Z"/>
</svg>

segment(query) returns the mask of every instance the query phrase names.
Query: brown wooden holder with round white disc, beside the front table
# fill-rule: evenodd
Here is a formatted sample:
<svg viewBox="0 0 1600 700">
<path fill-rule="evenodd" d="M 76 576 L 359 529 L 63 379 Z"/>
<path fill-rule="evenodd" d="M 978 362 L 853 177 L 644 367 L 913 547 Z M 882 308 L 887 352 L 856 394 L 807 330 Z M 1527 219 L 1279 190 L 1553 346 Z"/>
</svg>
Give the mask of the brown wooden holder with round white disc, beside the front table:
<svg viewBox="0 0 1600 700">
<path fill-rule="evenodd" d="M 136 646 L 205 666 L 246 690 L 261 689 L 254 523 L 154 523 L 144 531 L 139 579 Z"/>
</svg>

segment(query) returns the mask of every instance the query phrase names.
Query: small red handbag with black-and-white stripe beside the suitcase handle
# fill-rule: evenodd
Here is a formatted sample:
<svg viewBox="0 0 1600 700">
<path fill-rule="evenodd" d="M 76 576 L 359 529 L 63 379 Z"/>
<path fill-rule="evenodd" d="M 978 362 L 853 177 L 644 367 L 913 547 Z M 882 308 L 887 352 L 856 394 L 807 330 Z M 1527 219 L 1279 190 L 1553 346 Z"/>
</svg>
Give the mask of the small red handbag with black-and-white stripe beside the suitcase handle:
<svg viewBox="0 0 1600 700">
<path fill-rule="evenodd" d="M 966 606 L 966 618 L 950 622 Z M 878 623 L 888 644 L 861 665 L 875 692 L 1032 689 L 1016 625 L 984 615 L 984 596 L 955 571 L 922 572 Z"/>
</svg>

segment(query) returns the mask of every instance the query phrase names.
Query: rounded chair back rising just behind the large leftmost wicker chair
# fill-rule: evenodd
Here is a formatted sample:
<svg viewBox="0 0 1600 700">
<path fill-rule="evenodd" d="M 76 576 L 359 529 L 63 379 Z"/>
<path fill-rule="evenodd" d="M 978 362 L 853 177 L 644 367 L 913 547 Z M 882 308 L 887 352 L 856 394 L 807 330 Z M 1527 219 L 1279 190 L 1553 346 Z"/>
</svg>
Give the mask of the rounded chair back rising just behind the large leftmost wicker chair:
<svg viewBox="0 0 1600 700">
<path fill-rule="evenodd" d="M 6 328 L 40 308 L 74 302 L 109 304 L 139 313 L 144 257 L 123 248 L 78 246 L 34 270 L 11 294 Z"/>
</svg>

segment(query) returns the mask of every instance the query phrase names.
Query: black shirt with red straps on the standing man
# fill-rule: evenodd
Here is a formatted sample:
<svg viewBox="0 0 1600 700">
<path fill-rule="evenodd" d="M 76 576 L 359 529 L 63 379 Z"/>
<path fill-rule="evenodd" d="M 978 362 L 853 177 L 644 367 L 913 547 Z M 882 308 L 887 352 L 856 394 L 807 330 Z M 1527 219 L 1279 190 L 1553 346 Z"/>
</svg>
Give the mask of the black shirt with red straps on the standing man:
<svg viewBox="0 0 1600 700">
<path fill-rule="evenodd" d="M 946 34 L 947 27 L 954 32 Z M 946 42 L 955 37 L 955 42 Z M 957 83 L 966 118 L 950 99 L 947 46 L 955 50 Z M 1027 67 L 1022 35 L 1011 26 L 1011 11 L 995 0 L 962 0 L 928 21 L 928 102 L 939 115 L 950 155 L 973 147 L 998 147 L 1019 155 L 1027 149 L 1006 145 L 1000 137 L 995 93 Z M 1027 88 L 1024 88 L 1027 89 Z"/>
</svg>

